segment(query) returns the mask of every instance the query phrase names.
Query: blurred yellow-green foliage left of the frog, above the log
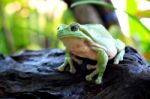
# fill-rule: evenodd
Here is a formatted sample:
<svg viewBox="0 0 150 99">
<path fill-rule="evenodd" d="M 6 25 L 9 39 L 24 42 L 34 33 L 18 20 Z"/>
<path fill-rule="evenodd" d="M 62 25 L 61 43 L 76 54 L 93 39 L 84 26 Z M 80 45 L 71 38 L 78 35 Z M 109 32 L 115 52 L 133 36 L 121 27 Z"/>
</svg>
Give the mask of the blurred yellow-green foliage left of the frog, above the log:
<svg viewBox="0 0 150 99">
<path fill-rule="evenodd" d="M 75 18 L 61 0 L 1 0 L 0 53 L 62 47 L 57 27 L 72 22 Z"/>
</svg>

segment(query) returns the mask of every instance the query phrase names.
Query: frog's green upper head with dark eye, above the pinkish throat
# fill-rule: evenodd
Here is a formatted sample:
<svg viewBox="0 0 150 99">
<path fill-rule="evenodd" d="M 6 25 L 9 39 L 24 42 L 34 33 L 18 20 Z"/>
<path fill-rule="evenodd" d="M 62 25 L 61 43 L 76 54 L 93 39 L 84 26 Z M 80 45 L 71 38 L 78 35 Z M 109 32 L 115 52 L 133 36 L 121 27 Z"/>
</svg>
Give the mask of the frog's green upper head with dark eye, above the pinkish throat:
<svg viewBox="0 0 150 99">
<path fill-rule="evenodd" d="M 78 23 L 73 23 L 70 25 L 61 24 L 58 27 L 58 38 L 66 37 L 83 37 L 83 32 L 80 30 L 80 25 Z"/>
</svg>

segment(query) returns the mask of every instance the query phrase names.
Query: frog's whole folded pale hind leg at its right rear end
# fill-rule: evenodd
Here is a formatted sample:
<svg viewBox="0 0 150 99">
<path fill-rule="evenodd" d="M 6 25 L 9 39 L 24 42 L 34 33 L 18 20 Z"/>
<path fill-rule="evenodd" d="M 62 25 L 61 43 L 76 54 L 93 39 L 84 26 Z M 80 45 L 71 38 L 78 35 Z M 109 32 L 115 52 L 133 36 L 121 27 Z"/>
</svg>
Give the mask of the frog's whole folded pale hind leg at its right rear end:
<svg viewBox="0 0 150 99">
<path fill-rule="evenodd" d="M 125 44 L 119 39 L 117 39 L 115 42 L 116 42 L 116 48 L 117 48 L 118 54 L 116 55 L 114 59 L 114 64 L 118 64 L 119 61 L 123 60 L 123 56 L 125 54 Z"/>
</svg>

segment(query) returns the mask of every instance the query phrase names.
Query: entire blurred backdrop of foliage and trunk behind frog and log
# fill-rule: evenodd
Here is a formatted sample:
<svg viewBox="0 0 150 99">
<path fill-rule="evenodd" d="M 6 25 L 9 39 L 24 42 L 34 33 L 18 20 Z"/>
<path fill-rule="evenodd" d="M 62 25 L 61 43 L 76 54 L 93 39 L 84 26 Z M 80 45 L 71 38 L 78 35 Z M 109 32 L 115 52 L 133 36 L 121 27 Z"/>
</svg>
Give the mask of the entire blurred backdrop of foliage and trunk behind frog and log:
<svg viewBox="0 0 150 99">
<path fill-rule="evenodd" d="M 77 1 L 89 3 L 71 8 Z M 0 0 L 0 53 L 64 48 L 57 27 L 74 22 L 103 24 L 150 62 L 150 0 Z"/>
</svg>

